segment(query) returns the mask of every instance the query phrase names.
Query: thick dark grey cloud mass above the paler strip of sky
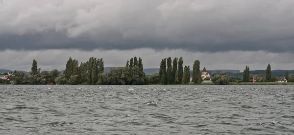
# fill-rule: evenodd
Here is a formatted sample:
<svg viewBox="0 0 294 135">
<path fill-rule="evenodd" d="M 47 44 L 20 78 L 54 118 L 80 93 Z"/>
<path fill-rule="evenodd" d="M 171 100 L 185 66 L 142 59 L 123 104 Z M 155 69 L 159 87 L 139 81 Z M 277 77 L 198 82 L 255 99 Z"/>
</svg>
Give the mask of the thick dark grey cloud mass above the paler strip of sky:
<svg viewBox="0 0 294 135">
<path fill-rule="evenodd" d="M 2 0 L 0 50 L 294 51 L 293 0 Z"/>
</svg>

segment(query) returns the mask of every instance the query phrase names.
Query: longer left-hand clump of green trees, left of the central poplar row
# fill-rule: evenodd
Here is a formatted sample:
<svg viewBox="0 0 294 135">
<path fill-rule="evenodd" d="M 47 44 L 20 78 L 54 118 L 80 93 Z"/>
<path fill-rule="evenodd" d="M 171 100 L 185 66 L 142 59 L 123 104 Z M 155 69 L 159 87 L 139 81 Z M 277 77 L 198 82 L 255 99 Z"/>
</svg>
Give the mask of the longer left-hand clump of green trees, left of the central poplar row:
<svg viewBox="0 0 294 135">
<path fill-rule="evenodd" d="M 104 72 L 102 58 L 90 57 L 88 61 L 79 63 L 71 57 L 66 63 L 63 73 L 57 69 L 41 71 L 34 59 L 29 74 L 15 73 L 10 76 L 14 84 L 70 84 L 70 85 L 143 85 L 149 83 L 149 78 L 143 72 L 141 57 L 132 57 L 124 67 L 112 68 Z M 2 80 L 0 81 L 2 83 Z"/>
</svg>

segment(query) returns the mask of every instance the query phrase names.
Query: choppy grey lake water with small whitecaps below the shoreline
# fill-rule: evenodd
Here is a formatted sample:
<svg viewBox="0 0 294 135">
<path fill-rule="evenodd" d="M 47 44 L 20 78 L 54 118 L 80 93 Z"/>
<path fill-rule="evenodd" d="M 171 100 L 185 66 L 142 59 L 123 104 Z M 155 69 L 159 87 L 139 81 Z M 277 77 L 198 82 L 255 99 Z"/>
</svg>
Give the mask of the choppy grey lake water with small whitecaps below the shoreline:
<svg viewBox="0 0 294 135">
<path fill-rule="evenodd" d="M 294 135 L 294 86 L 0 85 L 3 135 Z"/>
</svg>

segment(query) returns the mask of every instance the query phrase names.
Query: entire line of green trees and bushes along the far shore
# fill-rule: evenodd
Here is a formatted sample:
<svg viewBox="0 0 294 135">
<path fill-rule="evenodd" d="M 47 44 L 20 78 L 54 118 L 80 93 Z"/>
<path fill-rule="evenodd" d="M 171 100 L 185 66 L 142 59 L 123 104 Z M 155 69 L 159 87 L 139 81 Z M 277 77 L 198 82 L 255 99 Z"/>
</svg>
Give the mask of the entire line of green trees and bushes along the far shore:
<svg viewBox="0 0 294 135">
<path fill-rule="evenodd" d="M 160 62 L 160 70 L 150 76 L 146 76 L 143 71 L 143 62 L 139 57 L 132 57 L 126 61 L 124 67 L 110 69 L 104 73 L 104 62 L 102 58 L 90 57 L 86 62 L 78 62 L 71 57 L 66 63 L 63 73 L 57 69 L 52 71 L 41 71 L 37 61 L 32 62 L 29 74 L 14 72 L 10 76 L 10 81 L 14 84 L 83 84 L 83 85 L 144 85 L 144 84 L 186 84 L 190 81 L 190 66 L 183 66 L 183 57 L 163 58 Z M 6 75 L 6 74 L 5 74 Z M 249 67 L 246 66 L 243 72 L 243 80 L 238 77 L 231 77 L 225 72 L 219 75 L 211 73 L 212 79 L 202 79 L 200 71 L 200 61 L 196 60 L 192 70 L 192 82 L 201 83 L 203 80 L 211 80 L 214 84 L 228 84 L 229 82 L 248 82 L 254 76 L 262 77 L 260 82 L 274 82 L 276 77 L 271 76 L 271 67 L 268 64 L 266 76 L 250 74 Z M 281 77 L 282 75 L 280 75 Z M 294 82 L 294 74 L 288 75 L 286 71 L 284 77 L 288 82 Z M 257 80 L 259 81 L 259 80 Z M 9 84 L 9 81 L 0 80 L 0 83 Z"/>
</svg>

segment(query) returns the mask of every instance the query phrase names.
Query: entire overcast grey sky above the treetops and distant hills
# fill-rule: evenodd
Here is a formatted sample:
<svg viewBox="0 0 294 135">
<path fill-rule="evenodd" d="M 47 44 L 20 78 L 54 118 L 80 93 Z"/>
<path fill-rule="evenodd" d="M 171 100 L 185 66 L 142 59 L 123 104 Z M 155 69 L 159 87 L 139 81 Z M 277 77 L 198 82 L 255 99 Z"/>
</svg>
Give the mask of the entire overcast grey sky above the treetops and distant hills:
<svg viewBox="0 0 294 135">
<path fill-rule="evenodd" d="M 0 0 L 0 69 L 65 69 L 69 57 L 144 68 L 294 69 L 293 0 Z"/>
</svg>

